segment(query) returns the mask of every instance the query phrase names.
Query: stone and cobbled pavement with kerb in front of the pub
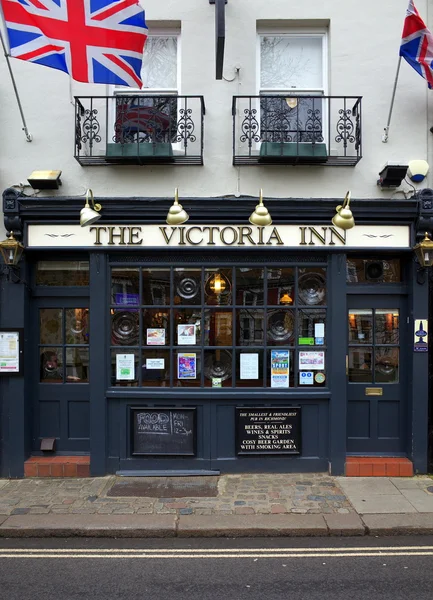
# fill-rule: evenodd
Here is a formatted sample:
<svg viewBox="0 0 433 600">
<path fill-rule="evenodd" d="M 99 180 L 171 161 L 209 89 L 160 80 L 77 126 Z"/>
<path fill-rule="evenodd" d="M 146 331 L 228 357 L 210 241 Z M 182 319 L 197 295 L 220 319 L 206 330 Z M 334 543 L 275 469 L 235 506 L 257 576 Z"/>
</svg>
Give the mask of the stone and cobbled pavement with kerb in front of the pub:
<svg viewBox="0 0 433 600">
<path fill-rule="evenodd" d="M 433 535 L 432 477 L 0 479 L 0 537 L 412 534 Z"/>
</svg>

